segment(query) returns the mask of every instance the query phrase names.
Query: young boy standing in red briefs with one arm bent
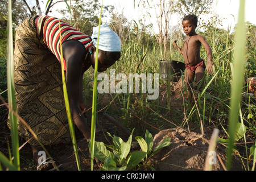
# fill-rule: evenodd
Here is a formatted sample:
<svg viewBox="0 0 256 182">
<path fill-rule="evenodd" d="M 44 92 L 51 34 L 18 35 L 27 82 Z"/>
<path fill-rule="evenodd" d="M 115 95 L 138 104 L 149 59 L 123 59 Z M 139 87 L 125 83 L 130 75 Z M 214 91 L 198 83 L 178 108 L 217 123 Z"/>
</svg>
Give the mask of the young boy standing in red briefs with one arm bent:
<svg viewBox="0 0 256 182">
<path fill-rule="evenodd" d="M 187 15 L 182 21 L 183 31 L 187 35 L 183 43 L 183 48 L 177 46 L 177 40 L 172 41 L 174 47 L 183 55 L 186 64 L 185 78 L 188 87 L 188 99 L 191 100 L 191 88 L 193 80 L 196 76 L 196 84 L 199 83 L 204 77 L 205 70 L 210 74 L 213 73 L 212 68 L 212 49 L 205 41 L 204 37 L 196 34 L 197 16 Z M 203 44 L 207 51 L 207 65 L 205 67 L 204 60 L 200 57 L 200 48 Z M 190 88 L 191 87 L 191 88 Z"/>
</svg>

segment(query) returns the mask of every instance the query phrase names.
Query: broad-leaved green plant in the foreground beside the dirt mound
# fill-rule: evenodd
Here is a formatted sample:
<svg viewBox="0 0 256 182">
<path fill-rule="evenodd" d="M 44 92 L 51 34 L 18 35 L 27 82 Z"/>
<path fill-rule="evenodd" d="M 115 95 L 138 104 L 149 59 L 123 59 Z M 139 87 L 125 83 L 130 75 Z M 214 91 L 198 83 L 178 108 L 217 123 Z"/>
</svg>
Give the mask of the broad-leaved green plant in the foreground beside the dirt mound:
<svg viewBox="0 0 256 182">
<path fill-rule="evenodd" d="M 134 129 L 133 129 L 134 131 Z M 145 139 L 142 137 L 135 137 L 138 141 L 141 151 L 130 152 L 131 141 L 133 138 L 133 131 L 127 142 L 123 142 L 120 137 L 109 136 L 113 139 L 114 145 L 104 144 L 103 142 L 96 142 L 94 146 L 94 156 L 104 164 L 101 167 L 101 171 L 125 171 L 134 169 L 139 163 L 143 161 L 144 167 L 146 166 L 148 159 L 159 152 L 163 147 L 167 147 L 171 144 L 170 137 L 164 138 L 163 141 L 152 150 L 153 137 L 146 131 Z M 90 142 L 90 140 L 88 140 Z M 113 152 L 109 151 L 110 148 Z M 90 143 L 89 143 L 90 148 Z M 154 169 L 150 167 L 151 169 Z"/>
</svg>

